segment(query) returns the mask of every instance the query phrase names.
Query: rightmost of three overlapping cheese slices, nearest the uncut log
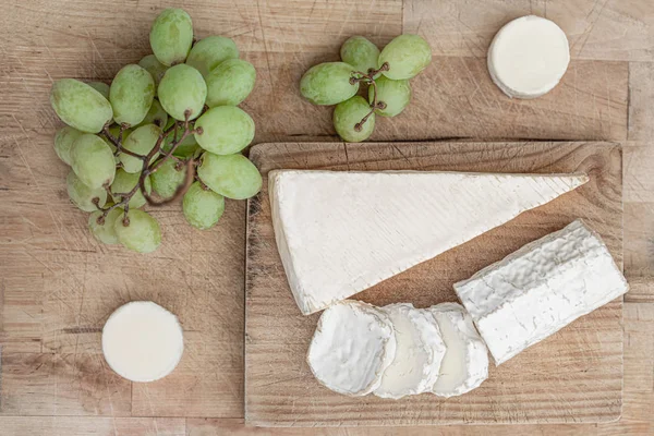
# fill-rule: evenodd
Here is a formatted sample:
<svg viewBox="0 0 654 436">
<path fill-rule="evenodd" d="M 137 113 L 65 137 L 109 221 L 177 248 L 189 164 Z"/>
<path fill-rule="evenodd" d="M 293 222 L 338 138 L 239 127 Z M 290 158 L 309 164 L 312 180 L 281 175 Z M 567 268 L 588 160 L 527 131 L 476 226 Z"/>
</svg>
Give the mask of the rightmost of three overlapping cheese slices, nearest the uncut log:
<svg viewBox="0 0 654 436">
<path fill-rule="evenodd" d="M 488 378 L 488 349 L 477 334 L 470 314 L 458 303 L 441 303 L 429 308 L 446 351 L 438 379 L 432 391 L 439 397 L 459 396 Z"/>
</svg>

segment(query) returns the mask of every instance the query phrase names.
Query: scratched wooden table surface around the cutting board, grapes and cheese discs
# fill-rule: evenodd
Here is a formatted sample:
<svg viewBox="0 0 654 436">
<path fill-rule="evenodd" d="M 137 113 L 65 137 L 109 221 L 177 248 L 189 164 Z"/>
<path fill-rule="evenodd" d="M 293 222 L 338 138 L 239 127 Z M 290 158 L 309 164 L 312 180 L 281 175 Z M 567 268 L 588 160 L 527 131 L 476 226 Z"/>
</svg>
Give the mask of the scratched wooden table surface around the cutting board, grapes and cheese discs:
<svg viewBox="0 0 654 436">
<path fill-rule="evenodd" d="M 608 140 L 623 146 L 625 405 L 616 423 L 554 426 L 266 429 L 243 425 L 245 204 L 208 232 L 180 206 L 155 211 L 164 243 L 149 256 L 102 246 L 65 193 L 52 150 L 61 125 L 53 80 L 109 82 L 149 52 L 170 1 L 5 0 L 0 14 L 0 435 L 652 435 L 654 434 L 654 3 L 651 0 L 194 0 L 198 37 L 234 38 L 257 69 L 243 105 L 256 143 L 336 141 L 327 108 L 298 94 L 308 66 L 336 60 L 350 35 L 386 44 L 425 36 L 432 66 L 414 101 L 373 140 Z M 570 38 L 561 86 L 526 102 L 491 84 L 485 51 L 507 21 L 535 13 Z M 100 329 L 132 300 L 177 313 L 186 352 L 154 384 L 102 360 Z"/>
</svg>

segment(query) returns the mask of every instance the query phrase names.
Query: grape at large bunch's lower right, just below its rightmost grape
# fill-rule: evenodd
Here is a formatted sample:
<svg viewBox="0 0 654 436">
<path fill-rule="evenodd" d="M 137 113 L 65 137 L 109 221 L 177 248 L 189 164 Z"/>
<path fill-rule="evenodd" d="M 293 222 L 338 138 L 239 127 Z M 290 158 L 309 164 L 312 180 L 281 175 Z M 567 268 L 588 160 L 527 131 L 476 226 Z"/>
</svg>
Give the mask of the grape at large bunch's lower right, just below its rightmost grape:
<svg viewBox="0 0 654 436">
<path fill-rule="evenodd" d="M 184 194 L 182 209 L 191 226 L 199 230 L 210 229 L 225 211 L 225 197 L 195 182 Z"/>
</svg>

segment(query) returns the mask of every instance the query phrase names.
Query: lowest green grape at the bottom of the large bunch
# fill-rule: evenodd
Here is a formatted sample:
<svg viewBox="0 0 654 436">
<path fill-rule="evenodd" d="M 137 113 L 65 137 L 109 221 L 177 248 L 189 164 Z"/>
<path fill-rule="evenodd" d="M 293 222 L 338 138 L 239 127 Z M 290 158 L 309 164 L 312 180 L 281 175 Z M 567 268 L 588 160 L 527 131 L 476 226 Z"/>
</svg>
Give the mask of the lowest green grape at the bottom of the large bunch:
<svg viewBox="0 0 654 436">
<path fill-rule="evenodd" d="M 117 219 L 113 228 L 118 241 L 128 250 L 138 253 L 152 253 L 161 243 L 161 229 L 156 219 L 140 209 L 130 209 L 129 225 L 123 219 Z"/>
</svg>

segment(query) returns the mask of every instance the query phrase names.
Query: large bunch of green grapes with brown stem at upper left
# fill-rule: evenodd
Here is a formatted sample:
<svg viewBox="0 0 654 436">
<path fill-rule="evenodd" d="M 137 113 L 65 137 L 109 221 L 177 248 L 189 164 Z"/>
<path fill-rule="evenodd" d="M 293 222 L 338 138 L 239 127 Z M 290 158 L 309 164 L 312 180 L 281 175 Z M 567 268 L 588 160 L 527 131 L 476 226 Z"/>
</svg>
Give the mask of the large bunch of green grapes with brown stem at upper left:
<svg viewBox="0 0 654 436">
<path fill-rule="evenodd" d="M 159 223 L 141 209 L 146 204 L 183 195 L 189 223 L 208 229 L 226 197 L 245 199 L 262 186 L 241 154 L 254 138 L 254 121 L 238 107 L 254 88 L 254 66 L 239 59 L 230 38 L 194 44 L 191 16 L 181 9 L 161 12 L 149 40 L 154 55 L 122 68 L 111 85 L 63 78 L 50 94 L 68 124 L 55 150 L 71 167 L 69 196 L 90 213 L 100 242 L 140 253 L 161 242 Z"/>
</svg>

